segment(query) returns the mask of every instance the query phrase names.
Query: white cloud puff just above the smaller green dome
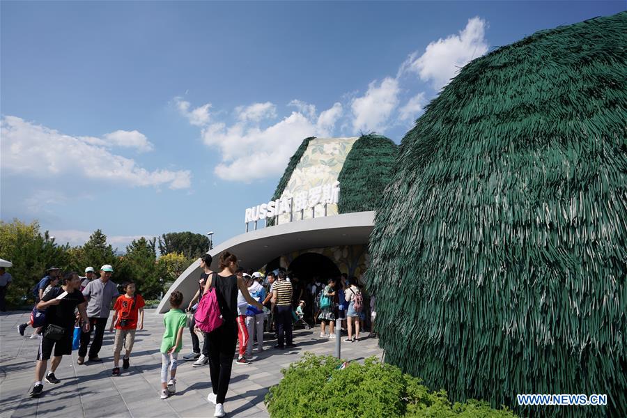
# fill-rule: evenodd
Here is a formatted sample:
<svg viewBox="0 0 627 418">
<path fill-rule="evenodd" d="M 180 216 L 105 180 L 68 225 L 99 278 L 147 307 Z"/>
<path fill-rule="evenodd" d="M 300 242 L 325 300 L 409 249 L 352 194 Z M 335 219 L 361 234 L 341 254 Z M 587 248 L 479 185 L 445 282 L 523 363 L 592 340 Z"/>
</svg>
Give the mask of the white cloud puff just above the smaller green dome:
<svg viewBox="0 0 627 418">
<path fill-rule="evenodd" d="M 355 132 L 382 131 L 390 114 L 398 105 L 398 79 L 386 77 L 379 86 L 371 82 L 366 94 L 353 99 L 353 130 Z"/>
</svg>

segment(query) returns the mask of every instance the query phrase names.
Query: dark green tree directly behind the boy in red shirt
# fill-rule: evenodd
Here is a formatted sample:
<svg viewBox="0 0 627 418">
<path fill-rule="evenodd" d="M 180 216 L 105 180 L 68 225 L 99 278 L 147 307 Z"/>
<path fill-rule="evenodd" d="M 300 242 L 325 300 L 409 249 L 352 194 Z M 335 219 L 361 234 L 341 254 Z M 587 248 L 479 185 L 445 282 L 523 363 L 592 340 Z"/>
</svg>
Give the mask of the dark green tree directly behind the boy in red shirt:
<svg viewBox="0 0 627 418">
<path fill-rule="evenodd" d="M 163 265 L 157 263 L 156 238 L 146 240 L 142 237 L 127 245 L 126 254 L 120 260 L 119 271 L 114 274 L 114 281 L 122 284 L 132 280 L 138 293 L 145 299 L 153 299 L 161 295 L 166 276 Z"/>
</svg>

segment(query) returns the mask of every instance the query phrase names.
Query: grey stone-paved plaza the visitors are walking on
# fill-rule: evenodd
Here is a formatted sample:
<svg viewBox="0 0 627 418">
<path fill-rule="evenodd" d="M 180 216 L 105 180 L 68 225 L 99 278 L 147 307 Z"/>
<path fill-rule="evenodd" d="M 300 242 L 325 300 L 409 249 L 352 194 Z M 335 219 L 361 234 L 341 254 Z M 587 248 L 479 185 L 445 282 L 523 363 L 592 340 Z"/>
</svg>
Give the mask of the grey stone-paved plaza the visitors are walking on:
<svg viewBox="0 0 627 418">
<path fill-rule="evenodd" d="M 100 350 L 102 362 L 76 364 L 77 351 L 64 356 L 56 377 L 58 385 L 44 382 L 40 398 L 29 398 L 33 385 L 35 359 L 39 339 L 17 333 L 17 325 L 26 322 L 25 311 L 0 314 L 0 418 L 8 417 L 210 417 L 213 405 L 207 402 L 210 392 L 209 366 L 192 367 L 181 362 L 176 372 L 176 394 L 160 399 L 162 315 L 146 309 L 145 330 L 137 331 L 130 369 L 112 377 L 114 334 L 104 334 Z M 30 336 L 32 328 L 26 329 Z M 366 335 L 367 333 L 364 333 Z M 276 350 L 275 339 L 265 334 L 266 350 L 251 364 L 233 362 L 233 374 L 224 408 L 228 417 L 268 417 L 263 399 L 268 388 L 281 380 L 281 369 L 309 351 L 317 355 L 333 355 L 335 341 L 320 339 L 320 327 L 295 330 L 296 348 Z M 357 343 L 342 341 L 345 359 L 363 361 L 381 358 L 376 339 Z M 183 335 L 180 357 L 191 351 L 189 331 Z M 254 353 L 256 354 L 256 353 Z M 48 362 L 49 367 L 50 362 Z M 120 362 L 121 364 L 121 362 Z"/>
</svg>

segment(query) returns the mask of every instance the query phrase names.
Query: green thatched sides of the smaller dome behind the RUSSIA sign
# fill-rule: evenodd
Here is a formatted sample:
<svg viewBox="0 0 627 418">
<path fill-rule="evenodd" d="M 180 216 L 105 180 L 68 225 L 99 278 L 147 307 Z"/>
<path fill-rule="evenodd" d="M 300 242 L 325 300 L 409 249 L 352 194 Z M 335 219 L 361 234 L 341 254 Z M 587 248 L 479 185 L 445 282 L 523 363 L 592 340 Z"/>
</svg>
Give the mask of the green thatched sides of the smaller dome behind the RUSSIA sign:
<svg viewBox="0 0 627 418">
<path fill-rule="evenodd" d="M 283 194 L 311 139 L 314 137 L 302 141 L 291 157 L 272 200 L 279 199 Z M 392 178 L 397 158 L 398 146 L 392 140 L 377 134 L 359 137 L 339 173 L 338 180 L 341 183 L 339 213 L 376 210 L 382 200 L 383 190 Z M 268 224 L 272 222 L 268 221 Z"/>
</svg>

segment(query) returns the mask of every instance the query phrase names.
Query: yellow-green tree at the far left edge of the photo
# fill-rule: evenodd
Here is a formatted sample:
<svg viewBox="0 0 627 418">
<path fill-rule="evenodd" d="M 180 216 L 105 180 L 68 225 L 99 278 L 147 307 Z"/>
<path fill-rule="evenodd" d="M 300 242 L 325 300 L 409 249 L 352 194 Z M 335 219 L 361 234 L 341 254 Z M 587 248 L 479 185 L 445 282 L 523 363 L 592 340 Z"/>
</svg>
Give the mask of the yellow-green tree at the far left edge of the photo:
<svg viewBox="0 0 627 418">
<path fill-rule="evenodd" d="M 56 245 L 47 231 L 42 235 L 38 222 L 0 222 L 0 258 L 13 263 L 7 269 L 13 276 L 7 302 L 15 307 L 32 300 L 32 288 L 45 276 L 47 268 L 68 268 L 68 249 L 68 245 Z"/>
</svg>

